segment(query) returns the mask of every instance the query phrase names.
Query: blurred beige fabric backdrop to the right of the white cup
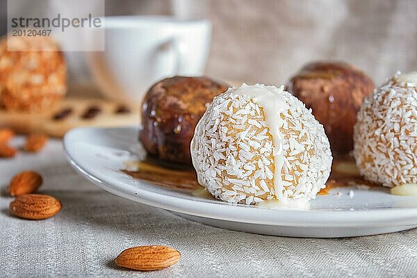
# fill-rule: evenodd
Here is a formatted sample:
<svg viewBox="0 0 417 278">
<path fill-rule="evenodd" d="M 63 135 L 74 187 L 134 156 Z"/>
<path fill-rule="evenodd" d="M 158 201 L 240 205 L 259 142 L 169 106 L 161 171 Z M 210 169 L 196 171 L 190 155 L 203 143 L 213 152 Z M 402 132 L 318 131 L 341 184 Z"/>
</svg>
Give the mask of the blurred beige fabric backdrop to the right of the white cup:
<svg viewBox="0 0 417 278">
<path fill-rule="evenodd" d="M 207 73 L 284 83 L 311 60 L 345 60 L 376 83 L 417 70 L 416 0 L 174 1 L 180 17 L 213 21 Z"/>
</svg>

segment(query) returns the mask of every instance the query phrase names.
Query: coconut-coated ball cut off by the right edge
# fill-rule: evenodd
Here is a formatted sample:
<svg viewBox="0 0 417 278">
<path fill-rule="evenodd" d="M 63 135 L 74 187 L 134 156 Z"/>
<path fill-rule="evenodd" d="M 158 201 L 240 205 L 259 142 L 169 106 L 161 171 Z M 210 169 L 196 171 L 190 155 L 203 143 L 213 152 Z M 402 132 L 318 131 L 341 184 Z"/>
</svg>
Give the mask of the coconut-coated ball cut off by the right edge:
<svg viewBox="0 0 417 278">
<path fill-rule="evenodd" d="M 396 74 L 363 101 L 354 158 L 369 181 L 417 183 L 417 72 Z"/>
</svg>

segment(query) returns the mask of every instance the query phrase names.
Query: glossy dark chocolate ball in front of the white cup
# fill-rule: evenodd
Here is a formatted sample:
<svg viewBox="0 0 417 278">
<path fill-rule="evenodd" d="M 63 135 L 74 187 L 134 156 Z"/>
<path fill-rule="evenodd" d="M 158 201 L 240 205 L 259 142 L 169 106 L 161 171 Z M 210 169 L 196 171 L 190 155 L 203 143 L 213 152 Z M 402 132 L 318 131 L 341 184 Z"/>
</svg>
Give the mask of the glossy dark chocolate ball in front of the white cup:
<svg viewBox="0 0 417 278">
<path fill-rule="evenodd" d="M 149 89 L 142 104 L 140 142 L 150 156 L 191 165 L 190 142 L 197 122 L 213 97 L 227 85 L 207 77 L 174 76 Z"/>
</svg>

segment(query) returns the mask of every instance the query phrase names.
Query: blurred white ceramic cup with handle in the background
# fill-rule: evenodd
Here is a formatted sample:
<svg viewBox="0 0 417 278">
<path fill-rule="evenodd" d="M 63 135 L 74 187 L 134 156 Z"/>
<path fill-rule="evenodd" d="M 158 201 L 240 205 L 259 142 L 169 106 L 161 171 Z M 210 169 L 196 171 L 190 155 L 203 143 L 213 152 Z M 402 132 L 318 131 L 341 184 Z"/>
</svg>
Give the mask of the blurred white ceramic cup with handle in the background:
<svg viewBox="0 0 417 278">
<path fill-rule="evenodd" d="M 86 52 L 95 82 L 108 99 L 141 101 L 156 81 L 204 72 L 211 42 L 207 20 L 165 16 L 104 17 L 104 51 Z M 94 44 L 99 32 L 84 34 Z M 97 40 L 98 41 L 98 40 Z"/>
</svg>

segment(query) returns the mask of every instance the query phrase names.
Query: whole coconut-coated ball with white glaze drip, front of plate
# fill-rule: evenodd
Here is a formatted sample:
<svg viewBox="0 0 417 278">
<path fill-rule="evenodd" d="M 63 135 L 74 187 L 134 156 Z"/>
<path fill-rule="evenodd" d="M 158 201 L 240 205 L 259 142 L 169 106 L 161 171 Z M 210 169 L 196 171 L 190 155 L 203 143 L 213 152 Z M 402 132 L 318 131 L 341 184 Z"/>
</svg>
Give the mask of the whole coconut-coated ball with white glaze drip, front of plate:
<svg viewBox="0 0 417 278">
<path fill-rule="evenodd" d="M 243 204 L 314 198 L 332 165 L 323 126 L 284 85 L 243 84 L 215 97 L 191 156 L 208 192 Z"/>
</svg>

